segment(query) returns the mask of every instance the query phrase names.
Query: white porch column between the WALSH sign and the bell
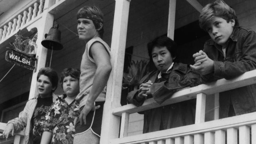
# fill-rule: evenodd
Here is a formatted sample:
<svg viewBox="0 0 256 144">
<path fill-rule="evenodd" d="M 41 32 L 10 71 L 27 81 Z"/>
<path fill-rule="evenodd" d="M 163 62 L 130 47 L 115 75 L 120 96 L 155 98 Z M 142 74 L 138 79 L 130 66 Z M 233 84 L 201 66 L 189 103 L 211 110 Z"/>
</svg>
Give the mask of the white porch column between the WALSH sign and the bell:
<svg viewBox="0 0 256 144">
<path fill-rule="evenodd" d="M 45 67 L 45 62 L 46 62 L 46 56 L 47 56 L 47 49 L 42 46 L 41 41 L 45 39 L 45 33 L 48 33 L 50 28 L 52 27 L 54 16 L 50 13 L 48 13 L 47 9 L 53 5 L 53 0 L 45 0 L 45 8 L 43 11 L 43 16 L 40 21 L 40 25 L 37 27 L 38 31 L 38 37 L 37 37 L 37 52 L 36 52 L 36 58 L 38 58 L 37 62 L 37 68 L 36 72 L 35 70 L 33 71 L 33 76 L 31 80 L 31 86 L 30 86 L 30 93 L 29 93 L 29 98 L 31 99 L 36 95 L 36 77 L 38 74 L 38 71 L 40 68 Z"/>
</svg>

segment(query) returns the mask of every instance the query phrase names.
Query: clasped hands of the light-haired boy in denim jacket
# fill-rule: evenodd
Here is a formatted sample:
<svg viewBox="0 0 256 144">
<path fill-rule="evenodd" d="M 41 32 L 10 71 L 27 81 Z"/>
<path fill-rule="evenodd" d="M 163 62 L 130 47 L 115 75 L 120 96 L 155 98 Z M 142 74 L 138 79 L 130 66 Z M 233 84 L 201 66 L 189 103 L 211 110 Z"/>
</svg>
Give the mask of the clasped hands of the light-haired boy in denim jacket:
<svg viewBox="0 0 256 144">
<path fill-rule="evenodd" d="M 194 53 L 193 58 L 195 63 L 194 65 L 190 65 L 192 70 L 203 75 L 214 71 L 214 62 L 204 51 L 200 50 L 199 52 Z"/>
</svg>

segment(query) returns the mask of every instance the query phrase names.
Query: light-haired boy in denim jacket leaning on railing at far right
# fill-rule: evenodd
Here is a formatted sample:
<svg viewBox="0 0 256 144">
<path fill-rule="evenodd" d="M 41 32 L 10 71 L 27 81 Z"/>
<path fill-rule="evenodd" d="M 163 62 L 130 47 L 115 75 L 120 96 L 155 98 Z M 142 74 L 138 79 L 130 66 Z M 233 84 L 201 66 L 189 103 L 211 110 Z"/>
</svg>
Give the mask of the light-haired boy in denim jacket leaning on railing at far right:
<svg viewBox="0 0 256 144">
<path fill-rule="evenodd" d="M 194 53 L 195 71 L 203 83 L 232 79 L 256 68 L 256 33 L 239 27 L 234 9 L 223 0 L 206 5 L 199 25 L 211 39 Z M 220 93 L 220 118 L 256 111 L 256 84 Z"/>
</svg>

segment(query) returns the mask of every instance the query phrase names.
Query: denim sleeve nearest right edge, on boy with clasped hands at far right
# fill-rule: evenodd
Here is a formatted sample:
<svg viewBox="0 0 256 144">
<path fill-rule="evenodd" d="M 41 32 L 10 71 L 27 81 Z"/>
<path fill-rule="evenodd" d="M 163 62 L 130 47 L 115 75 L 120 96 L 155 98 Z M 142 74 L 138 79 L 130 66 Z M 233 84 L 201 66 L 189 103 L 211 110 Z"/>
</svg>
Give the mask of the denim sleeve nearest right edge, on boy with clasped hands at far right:
<svg viewBox="0 0 256 144">
<path fill-rule="evenodd" d="M 214 61 L 215 77 L 232 79 L 244 72 L 256 69 L 256 33 L 254 31 L 249 31 L 242 37 L 241 47 L 242 53 L 235 53 L 235 56 L 241 56 L 240 60 L 235 62 Z"/>
</svg>

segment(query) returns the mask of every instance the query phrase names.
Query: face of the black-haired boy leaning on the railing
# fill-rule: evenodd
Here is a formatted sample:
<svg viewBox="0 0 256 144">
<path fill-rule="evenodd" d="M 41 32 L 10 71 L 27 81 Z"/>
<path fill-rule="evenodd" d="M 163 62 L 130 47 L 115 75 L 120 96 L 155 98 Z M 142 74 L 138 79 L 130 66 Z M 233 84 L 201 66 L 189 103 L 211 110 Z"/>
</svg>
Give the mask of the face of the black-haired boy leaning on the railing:
<svg viewBox="0 0 256 144">
<path fill-rule="evenodd" d="M 168 51 L 166 46 L 155 46 L 152 49 L 152 59 L 156 68 L 161 72 L 166 72 L 173 63 L 173 57 L 171 56 L 171 53 Z"/>
</svg>

